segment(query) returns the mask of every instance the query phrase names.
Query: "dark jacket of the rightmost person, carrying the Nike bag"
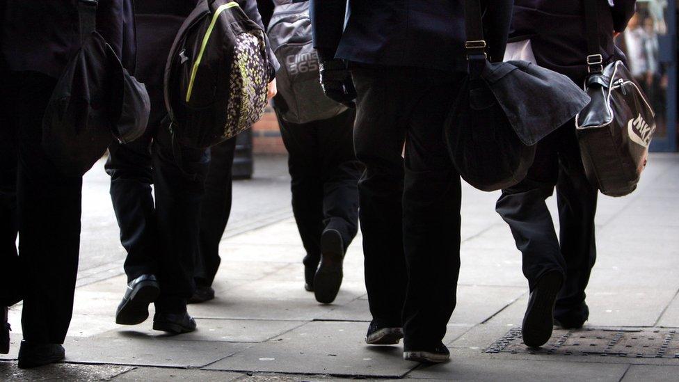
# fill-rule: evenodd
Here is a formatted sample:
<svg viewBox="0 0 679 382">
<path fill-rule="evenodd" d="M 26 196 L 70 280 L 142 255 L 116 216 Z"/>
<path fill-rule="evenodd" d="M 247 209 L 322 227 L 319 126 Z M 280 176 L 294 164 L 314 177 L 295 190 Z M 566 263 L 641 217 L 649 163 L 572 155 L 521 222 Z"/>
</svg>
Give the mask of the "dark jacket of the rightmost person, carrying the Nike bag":
<svg viewBox="0 0 679 382">
<path fill-rule="evenodd" d="M 635 0 L 598 0 L 599 40 L 605 61 L 614 57 L 613 33 L 634 14 Z M 587 74 L 584 0 L 515 0 L 510 40 L 531 40 L 538 65 L 576 82 Z"/>
</svg>

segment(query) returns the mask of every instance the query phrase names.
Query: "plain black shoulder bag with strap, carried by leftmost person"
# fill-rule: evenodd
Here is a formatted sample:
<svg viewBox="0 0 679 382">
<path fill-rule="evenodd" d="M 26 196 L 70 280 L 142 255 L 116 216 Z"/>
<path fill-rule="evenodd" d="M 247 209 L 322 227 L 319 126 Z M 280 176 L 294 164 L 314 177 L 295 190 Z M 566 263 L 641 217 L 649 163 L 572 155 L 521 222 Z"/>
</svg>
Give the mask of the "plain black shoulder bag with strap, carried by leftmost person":
<svg viewBox="0 0 679 382">
<path fill-rule="evenodd" d="M 96 31 L 97 0 L 79 0 L 81 47 L 66 65 L 42 120 L 42 148 L 67 176 L 82 176 L 113 139 L 143 135 L 150 112 L 146 87 L 122 67 Z"/>
</svg>

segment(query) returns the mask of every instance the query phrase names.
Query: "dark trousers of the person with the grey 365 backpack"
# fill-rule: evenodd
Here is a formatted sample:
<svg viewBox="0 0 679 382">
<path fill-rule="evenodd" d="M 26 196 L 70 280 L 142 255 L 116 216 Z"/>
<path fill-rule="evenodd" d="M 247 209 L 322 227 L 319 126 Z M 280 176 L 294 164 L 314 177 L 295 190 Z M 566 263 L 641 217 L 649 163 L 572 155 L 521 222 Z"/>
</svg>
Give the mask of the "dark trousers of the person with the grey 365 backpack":
<svg viewBox="0 0 679 382">
<path fill-rule="evenodd" d="M 292 210 L 306 250 L 306 266 L 319 264 L 323 230 L 340 232 L 344 248 L 358 232 L 358 177 L 362 166 L 353 150 L 355 116 L 356 111 L 347 110 L 304 124 L 278 116 L 289 154 Z"/>
</svg>

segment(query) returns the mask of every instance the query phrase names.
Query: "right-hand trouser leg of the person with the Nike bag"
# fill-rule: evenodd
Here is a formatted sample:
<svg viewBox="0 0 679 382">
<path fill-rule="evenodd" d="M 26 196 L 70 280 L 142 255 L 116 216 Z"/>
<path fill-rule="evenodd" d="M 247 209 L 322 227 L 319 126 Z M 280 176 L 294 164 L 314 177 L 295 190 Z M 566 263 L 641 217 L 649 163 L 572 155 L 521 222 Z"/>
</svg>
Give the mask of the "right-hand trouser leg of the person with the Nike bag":
<svg viewBox="0 0 679 382">
<path fill-rule="evenodd" d="M 557 299 L 554 317 L 569 314 L 571 319 L 584 322 L 589 318 L 589 309 L 584 305 L 584 289 L 596 261 L 594 215 L 598 190 L 584 173 L 575 129 L 570 127 L 566 130 L 561 141 L 557 205 L 559 243 L 566 262 L 566 278 Z"/>
</svg>

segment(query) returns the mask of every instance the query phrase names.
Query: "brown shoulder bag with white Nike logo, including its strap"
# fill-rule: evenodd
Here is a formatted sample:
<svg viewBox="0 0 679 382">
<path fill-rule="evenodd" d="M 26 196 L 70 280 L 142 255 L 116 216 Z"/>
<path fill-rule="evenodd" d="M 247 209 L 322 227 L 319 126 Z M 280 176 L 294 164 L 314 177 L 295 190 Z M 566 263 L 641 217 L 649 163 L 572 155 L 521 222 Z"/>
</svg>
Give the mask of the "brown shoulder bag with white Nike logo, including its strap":
<svg viewBox="0 0 679 382">
<path fill-rule="evenodd" d="M 592 101 L 575 118 L 582 164 L 593 186 L 607 196 L 637 189 L 655 133 L 655 113 L 623 61 L 604 66 L 598 10 L 585 0 L 587 70 L 584 88 Z"/>
</svg>

